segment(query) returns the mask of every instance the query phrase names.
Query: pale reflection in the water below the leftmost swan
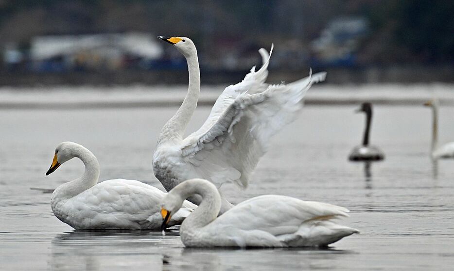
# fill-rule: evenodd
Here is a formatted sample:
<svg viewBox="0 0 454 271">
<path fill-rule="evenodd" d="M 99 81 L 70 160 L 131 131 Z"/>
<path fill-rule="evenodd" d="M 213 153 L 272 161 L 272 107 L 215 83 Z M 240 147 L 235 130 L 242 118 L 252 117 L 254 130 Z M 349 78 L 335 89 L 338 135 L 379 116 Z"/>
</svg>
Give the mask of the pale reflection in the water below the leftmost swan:
<svg viewBox="0 0 454 271">
<path fill-rule="evenodd" d="M 52 240 L 49 267 L 95 271 L 126 266 L 133 270 L 162 269 L 163 255 L 159 252 L 168 253 L 172 239 L 179 240 L 177 230 L 168 230 L 165 239 L 160 231 L 73 230 Z"/>
</svg>

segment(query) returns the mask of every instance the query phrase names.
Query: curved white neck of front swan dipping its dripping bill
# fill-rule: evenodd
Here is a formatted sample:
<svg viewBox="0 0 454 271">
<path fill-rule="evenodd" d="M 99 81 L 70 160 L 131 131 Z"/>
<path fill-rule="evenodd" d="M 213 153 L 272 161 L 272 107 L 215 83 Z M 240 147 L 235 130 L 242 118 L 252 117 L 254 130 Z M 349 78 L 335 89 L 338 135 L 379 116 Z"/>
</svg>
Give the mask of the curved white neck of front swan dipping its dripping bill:
<svg viewBox="0 0 454 271">
<path fill-rule="evenodd" d="M 202 197 L 202 202 L 199 206 L 183 221 L 181 225 L 182 231 L 197 230 L 206 226 L 216 219 L 221 209 L 221 195 L 216 186 L 207 180 L 192 179 L 184 181 L 169 193 L 178 195 L 182 202 L 194 194 Z"/>
</svg>

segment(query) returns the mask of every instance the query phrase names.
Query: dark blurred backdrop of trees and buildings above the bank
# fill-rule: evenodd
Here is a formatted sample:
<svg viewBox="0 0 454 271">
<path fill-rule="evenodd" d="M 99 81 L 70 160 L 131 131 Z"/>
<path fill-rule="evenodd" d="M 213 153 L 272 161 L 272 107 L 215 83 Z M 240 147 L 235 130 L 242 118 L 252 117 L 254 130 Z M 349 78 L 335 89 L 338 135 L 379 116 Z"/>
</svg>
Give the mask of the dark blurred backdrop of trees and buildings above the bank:
<svg viewBox="0 0 454 271">
<path fill-rule="evenodd" d="M 453 14 L 449 0 L 0 0 L 0 85 L 185 83 L 157 35 L 192 38 L 204 83 L 241 80 L 271 43 L 276 78 L 454 81 Z"/>
</svg>

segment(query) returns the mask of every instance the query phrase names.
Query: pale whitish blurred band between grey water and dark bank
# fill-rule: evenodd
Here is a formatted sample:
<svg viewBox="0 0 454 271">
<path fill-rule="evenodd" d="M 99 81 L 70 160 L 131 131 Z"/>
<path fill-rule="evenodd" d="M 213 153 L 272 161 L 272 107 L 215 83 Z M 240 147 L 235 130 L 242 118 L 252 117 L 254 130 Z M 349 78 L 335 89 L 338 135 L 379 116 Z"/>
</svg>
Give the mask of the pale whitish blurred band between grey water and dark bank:
<svg viewBox="0 0 454 271">
<path fill-rule="evenodd" d="M 212 106 L 226 86 L 203 85 L 199 106 Z M 307 105 L 351 105 L 364 101 L 383 105 L 421 105 L 437 97 L 454 105 L 454 84 L 315 85 Z M 186 95 L 185 85 L 0 87 L 0 110 L 102 109 L 177 107 Z"/>
</svg>

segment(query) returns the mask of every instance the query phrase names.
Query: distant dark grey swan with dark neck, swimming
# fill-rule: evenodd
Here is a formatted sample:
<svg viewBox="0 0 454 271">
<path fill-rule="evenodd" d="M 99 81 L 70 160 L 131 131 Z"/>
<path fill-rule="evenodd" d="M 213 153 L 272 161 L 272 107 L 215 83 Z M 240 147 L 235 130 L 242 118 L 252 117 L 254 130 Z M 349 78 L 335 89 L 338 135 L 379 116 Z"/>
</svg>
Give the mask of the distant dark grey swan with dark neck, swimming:
<svg viewBox="0 0 454 271">
<path fill-rule="evenodd" d="M 356 112 L 366 114 L 366 128 L 364 129 L 363 144 L 353 148 L 349 155 L 351 161 L 378 161 L 384 159 L 383 151 L 373 145 L 369 145 L 369 132 L 372 124 L 372 104 L 363 103 Z"/>
</svg>

